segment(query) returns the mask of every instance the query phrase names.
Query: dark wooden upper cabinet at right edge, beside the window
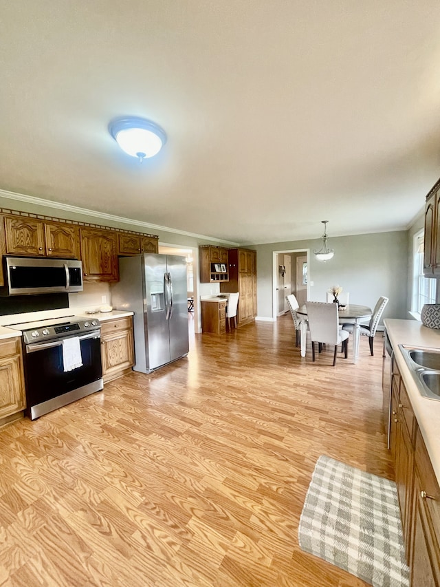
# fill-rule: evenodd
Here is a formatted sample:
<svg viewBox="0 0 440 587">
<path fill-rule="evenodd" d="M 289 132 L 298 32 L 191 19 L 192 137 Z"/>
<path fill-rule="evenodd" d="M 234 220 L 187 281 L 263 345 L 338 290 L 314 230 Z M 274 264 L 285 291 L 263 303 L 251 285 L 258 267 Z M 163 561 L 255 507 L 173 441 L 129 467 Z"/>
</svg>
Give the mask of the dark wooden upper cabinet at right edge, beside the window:
<svg viewBox="0 0 440 587">
<path fill-rule="evenodd" d="M 423 273 L 440 276 L 440 180 L 426 196 Z"/>
</svg>

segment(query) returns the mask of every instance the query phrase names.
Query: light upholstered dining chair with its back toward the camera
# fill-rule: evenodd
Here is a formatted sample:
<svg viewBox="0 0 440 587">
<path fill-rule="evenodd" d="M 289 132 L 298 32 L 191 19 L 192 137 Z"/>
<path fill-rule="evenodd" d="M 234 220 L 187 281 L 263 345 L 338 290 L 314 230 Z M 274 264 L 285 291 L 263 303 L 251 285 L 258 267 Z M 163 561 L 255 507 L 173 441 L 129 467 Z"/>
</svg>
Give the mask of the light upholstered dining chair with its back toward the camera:
<svg viewBox="0 0 440 587">
<path fill-rule="evenodd" d="M 339 312 L 337 303 L 324 303 L 321 301 L 306 301 L 307 321 L 309 322 L 311 338 L 311 355 L 315 361 L 315 343 L 333 345 L 333 367 L 336 365 L 338 345 L 342 343 L 344 357 L 348 356 L 349 332 L 339 328 Z"/>
</svg>

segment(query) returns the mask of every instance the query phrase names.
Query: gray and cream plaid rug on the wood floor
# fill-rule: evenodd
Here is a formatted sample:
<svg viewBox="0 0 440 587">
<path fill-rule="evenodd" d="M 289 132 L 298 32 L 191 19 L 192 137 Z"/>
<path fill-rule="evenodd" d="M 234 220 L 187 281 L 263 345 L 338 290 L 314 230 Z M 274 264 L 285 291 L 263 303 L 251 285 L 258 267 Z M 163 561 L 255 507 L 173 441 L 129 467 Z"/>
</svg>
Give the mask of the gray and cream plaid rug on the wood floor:
<svg viewBox="0 0 440 587">
<path fill-rule="evenodd" d="M 397 488 L 320 456 L 298 529 L 300 548 L 374 587 L 407 587 Z"/>
</svg>

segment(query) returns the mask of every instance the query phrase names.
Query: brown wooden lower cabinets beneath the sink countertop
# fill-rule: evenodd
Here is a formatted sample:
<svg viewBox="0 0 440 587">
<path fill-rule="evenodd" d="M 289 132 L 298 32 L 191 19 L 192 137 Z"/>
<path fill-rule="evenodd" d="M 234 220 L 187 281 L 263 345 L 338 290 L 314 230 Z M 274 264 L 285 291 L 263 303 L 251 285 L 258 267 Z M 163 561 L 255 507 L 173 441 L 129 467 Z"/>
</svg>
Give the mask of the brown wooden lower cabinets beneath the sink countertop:
<svg viewBox="0 0 440 587">
<path fill-rule="evenodd" d="M 439 484 L 395 363 L 391 449 L 411 587 L 440 587 Z"/>
</svg>

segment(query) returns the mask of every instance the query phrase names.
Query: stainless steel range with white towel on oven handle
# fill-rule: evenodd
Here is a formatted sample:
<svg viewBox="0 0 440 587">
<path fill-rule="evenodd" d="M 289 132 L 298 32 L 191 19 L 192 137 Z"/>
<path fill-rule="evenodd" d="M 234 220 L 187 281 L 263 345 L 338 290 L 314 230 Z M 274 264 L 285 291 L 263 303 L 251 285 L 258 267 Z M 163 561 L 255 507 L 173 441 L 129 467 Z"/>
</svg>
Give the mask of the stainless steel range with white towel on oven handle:
<svg viewBox="0 0 440 587">
<path fill-rule="evenodd" d="M 100 322 L 78 317 L 14 324 L 23 332 L 26 414 L 34 420 L 100 391 Z"/>
</svg>

